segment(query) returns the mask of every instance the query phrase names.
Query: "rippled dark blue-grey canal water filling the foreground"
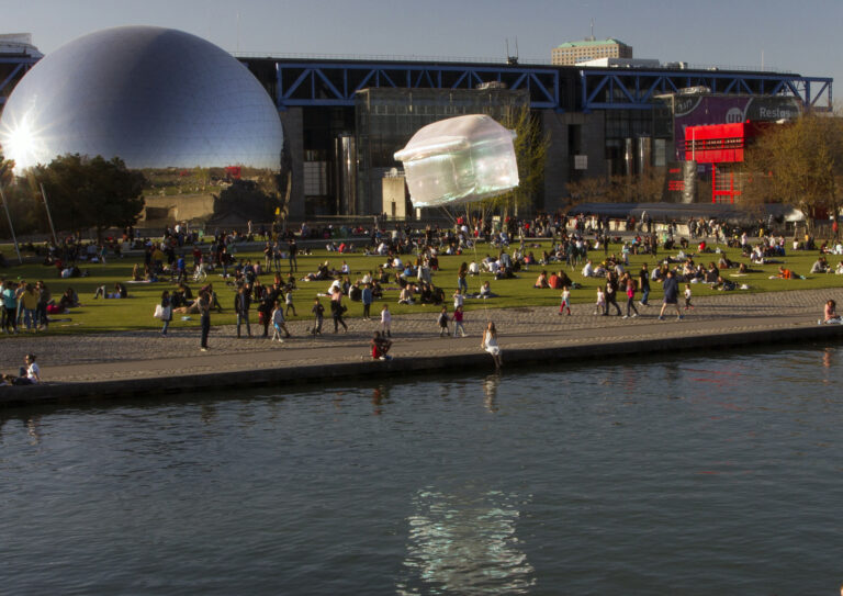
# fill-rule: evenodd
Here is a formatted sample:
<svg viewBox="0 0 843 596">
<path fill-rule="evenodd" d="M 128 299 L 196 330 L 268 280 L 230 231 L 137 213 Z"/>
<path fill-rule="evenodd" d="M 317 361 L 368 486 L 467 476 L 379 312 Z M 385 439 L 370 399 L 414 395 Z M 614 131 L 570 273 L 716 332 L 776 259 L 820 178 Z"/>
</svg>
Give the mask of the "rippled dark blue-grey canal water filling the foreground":
<svg viewBox="0 0 843 596">
<path fill-rule="evenodd" d="M 0 411 L 3 594 L 836 594 L 843 347 Z"/>
</svg>

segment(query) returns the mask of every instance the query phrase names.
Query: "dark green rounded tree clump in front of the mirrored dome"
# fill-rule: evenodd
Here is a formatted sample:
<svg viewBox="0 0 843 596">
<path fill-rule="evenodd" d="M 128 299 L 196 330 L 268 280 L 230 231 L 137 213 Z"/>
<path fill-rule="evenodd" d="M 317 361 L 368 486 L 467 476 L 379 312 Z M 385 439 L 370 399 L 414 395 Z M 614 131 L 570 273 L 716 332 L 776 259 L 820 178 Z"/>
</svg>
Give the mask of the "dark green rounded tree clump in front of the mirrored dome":
<svg viewBox="0 0 843 596">
<path fill-rule="evenodd" d="M 144 209 L 144 175 L 119 157 L 65 155 L 33 168 L 30 182 L 33 192 L 44 184 L 58 229 L 94 228 L 98 240 L 109 227 L 134 225 Z"/>
</svg>

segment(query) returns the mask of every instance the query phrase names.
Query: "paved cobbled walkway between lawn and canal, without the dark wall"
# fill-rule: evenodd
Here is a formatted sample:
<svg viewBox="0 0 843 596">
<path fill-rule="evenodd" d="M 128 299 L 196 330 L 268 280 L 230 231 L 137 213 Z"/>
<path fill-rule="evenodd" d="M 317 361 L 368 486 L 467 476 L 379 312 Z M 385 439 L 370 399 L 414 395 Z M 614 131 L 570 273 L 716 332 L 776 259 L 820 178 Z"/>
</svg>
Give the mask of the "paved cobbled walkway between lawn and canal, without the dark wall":
<svg viewBox="0 0 843 596">
<path fill-rule="evenodd" d="M 487 319 L 494 321 L 498 328 L 505 363 L 506 352 L 510 350 L 760 330 L 782 330 L 782 337 L 786 339 L 788 328 L 817 326 L 823 304 L 830 297 L 843 304 L 843 289 L 763 294 L 735 291 L 695 296 L 696 308 L 682 322 L 675 316 L 657 321 L 660 304 L 655 303 L 649 307 L 639 306 L 641 315 L 629 319 L 596 316 L 591 304 L 574 305 L 572 316 L 559 316 L 555 307 L 488 308 L 469 312 L 467 329 L 470 336 L 458 339 L 438 337 L 436 313 L 402 315 L 393 319 L 391 353 L 396 360 L 442 356 L 460 359 L 477 355 L 481 352 L 481 331 Z M 52 383 L 130 381 L 314 364 L 327 367 L 369 360 L 369 339 L 379 323 L 361 319 L 348 319 L 348 323 L 347 334 L 334 335 L 333 323 L 326 318 L 325 335 L 313 338 L 306 334 L 310 321 L 292 322 L 289 326 L 294 337 L 281 345 L 263 338 L 236 339 L 234 326 L 213 327 L 207 352 L 199 351 L 198 327 L 179 328 L 178 325 L 168 337 L 161 337 L 157 327 L 77 336 L 25 335 L 0 341 L 0 355 L 7 363 L 3 372 L 16 374 L 23 355 L 35 352 L 43 379 Z M 252 331 L 257 327 L 255 325 Z M 488 364 L 491 367 L 491 359 Z"/>
</svg>

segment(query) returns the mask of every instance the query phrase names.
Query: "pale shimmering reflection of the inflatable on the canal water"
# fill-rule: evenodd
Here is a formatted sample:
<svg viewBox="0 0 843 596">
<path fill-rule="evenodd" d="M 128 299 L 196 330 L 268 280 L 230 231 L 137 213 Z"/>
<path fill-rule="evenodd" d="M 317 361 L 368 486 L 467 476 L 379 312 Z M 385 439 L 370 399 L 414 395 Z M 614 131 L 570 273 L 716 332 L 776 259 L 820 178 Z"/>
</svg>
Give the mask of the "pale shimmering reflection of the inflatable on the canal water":
<svg viewBox="0 0 843 596">
<path fill-rule="evenodd" d="M 526 594 L 536 576 L 516 536 L 519 505 L 517 495 L 499 491 L 420 490 L 397 593 Z"/>
</svg>

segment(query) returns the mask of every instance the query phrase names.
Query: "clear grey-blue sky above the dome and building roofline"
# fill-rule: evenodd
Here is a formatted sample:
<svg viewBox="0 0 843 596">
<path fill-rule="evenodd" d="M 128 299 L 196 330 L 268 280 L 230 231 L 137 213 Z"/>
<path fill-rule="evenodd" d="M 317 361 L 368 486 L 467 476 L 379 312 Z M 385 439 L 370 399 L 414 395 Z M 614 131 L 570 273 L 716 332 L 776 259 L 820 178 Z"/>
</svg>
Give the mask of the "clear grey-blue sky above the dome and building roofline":
<svg viewBox="0 0 843 596">
<path fill-rule="evenodd" d="M 0 32 L 32 33 L 44 53 L 151 24 L 261 54 L 503 58 L 517 37 L 522 63 L 549 60 L 594 19 L 595 36 L 639 58 L 760 67 L 763 52 L 766 67 L 843 86 L 843 0 L 0 0 Z"/>
</svg>

